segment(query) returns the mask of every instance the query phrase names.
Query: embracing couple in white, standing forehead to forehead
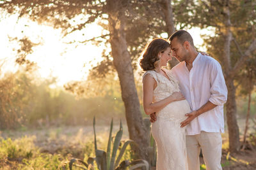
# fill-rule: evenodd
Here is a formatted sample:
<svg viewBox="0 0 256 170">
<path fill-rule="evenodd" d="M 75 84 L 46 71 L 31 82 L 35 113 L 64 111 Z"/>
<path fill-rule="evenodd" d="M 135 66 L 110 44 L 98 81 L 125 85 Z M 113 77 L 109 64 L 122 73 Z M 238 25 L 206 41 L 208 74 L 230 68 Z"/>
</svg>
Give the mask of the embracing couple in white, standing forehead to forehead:
<svg viewBox="0 0 256 170">
<path fill-rule="evenodd" d="M 180 63 L 164 69 L 168 60 Z M 140 60 L 143 75 L 143 107 L 153 122 L 157 145 L 157 170 L 199 170 L 200 148 L 207 169 L 221 168 L 223 104 L 227 87 L 221 66 L 198 53 L 191 35 L 176 31 L 165 39 L 153 39 Z"/>
</svg>

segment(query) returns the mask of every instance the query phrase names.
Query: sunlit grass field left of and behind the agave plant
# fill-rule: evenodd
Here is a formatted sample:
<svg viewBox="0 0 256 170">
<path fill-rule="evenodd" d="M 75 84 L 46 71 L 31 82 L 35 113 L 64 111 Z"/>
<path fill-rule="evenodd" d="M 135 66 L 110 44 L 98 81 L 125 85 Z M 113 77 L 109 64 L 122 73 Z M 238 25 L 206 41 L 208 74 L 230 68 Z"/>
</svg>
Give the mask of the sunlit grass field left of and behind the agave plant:
<svg viewBox="0 0 256 170">
<path fill-rule="evenodd" d="M 88 157 L 95 157 L 91 129 L 92 126 L 0 131 L 0 169 L 61 169 L 72 157 L 85 162 Z M 98 147 L 106 150 L 109 129 L 103 126 L 97 129 Z M 118 125 L 113 127 L 114 132 L 117 129 Z M 133 153 L 128 146 L 122 160 L 132 157 Z M 65 167 L 68 169 L 67 165 Z"/>
</svg>

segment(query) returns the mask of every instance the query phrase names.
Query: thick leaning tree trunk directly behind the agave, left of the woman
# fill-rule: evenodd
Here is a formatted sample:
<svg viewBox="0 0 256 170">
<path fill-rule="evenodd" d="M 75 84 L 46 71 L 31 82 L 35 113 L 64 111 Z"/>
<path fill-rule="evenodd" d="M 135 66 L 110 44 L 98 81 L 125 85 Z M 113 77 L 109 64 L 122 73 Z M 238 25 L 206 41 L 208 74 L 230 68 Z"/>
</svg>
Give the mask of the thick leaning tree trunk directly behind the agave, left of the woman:
<svg viewBox="0 0 256 170">
<path fill-rule="evenodd" d="M 108 1 L 109 8 L 115 9 L 115 1 Z M 125 117 L 127 121 L 129 138 L 138 144 L 136 153 L 141 159 L 148 160 L 148 138 L 147 131 L 143 124 L 140 111 L 140 102 L 134 83 L 134 74 L 131 64 L 131 56 L 127 50 L 127 42 L 125 39 L 125 23 L 118 12 L 109 13 L 109 31 L 111 54 L 113 56 L 113 64 L 118 73 L 120 86 L 122 90 L 122 99 L 125 105 Z"/>
</svg>

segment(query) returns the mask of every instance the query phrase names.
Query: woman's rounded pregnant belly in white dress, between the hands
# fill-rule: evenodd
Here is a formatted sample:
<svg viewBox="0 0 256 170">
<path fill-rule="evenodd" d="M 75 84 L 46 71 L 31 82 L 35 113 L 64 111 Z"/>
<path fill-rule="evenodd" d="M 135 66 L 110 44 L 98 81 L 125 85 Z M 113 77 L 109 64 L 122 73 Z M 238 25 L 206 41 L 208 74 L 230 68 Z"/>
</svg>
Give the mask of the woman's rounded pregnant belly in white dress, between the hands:
<svg viewBox="0 0 256 170">
<path fill-rule="evenodd" d="M 189 113 L 190 106 L 188 101 L 175 101 L 167 106 L 165 106 L 162 110 L 157 112 L 157 117 L 160 118 L 171 118 L 173 120 L 185 120 L 185 114 Z"/>
</svg>

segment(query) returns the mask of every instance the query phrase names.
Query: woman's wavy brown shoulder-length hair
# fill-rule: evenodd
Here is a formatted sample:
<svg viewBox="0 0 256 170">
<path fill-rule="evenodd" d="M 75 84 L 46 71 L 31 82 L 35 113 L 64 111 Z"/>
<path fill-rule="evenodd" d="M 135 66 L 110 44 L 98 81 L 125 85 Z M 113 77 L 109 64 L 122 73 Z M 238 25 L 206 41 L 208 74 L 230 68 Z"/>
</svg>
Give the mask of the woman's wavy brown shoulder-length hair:
<svg viewBox="0 0 256 170">
<path fill-rule="evenodd" d="M 155 38 L 150 41 L 145 47 L 140 60 L 140 66 L 143 71 L 155 69 L 159 64 L 159 52 L 163 53 L 169 46 L 170 43 L 163 38 Z"/>
</svg>

